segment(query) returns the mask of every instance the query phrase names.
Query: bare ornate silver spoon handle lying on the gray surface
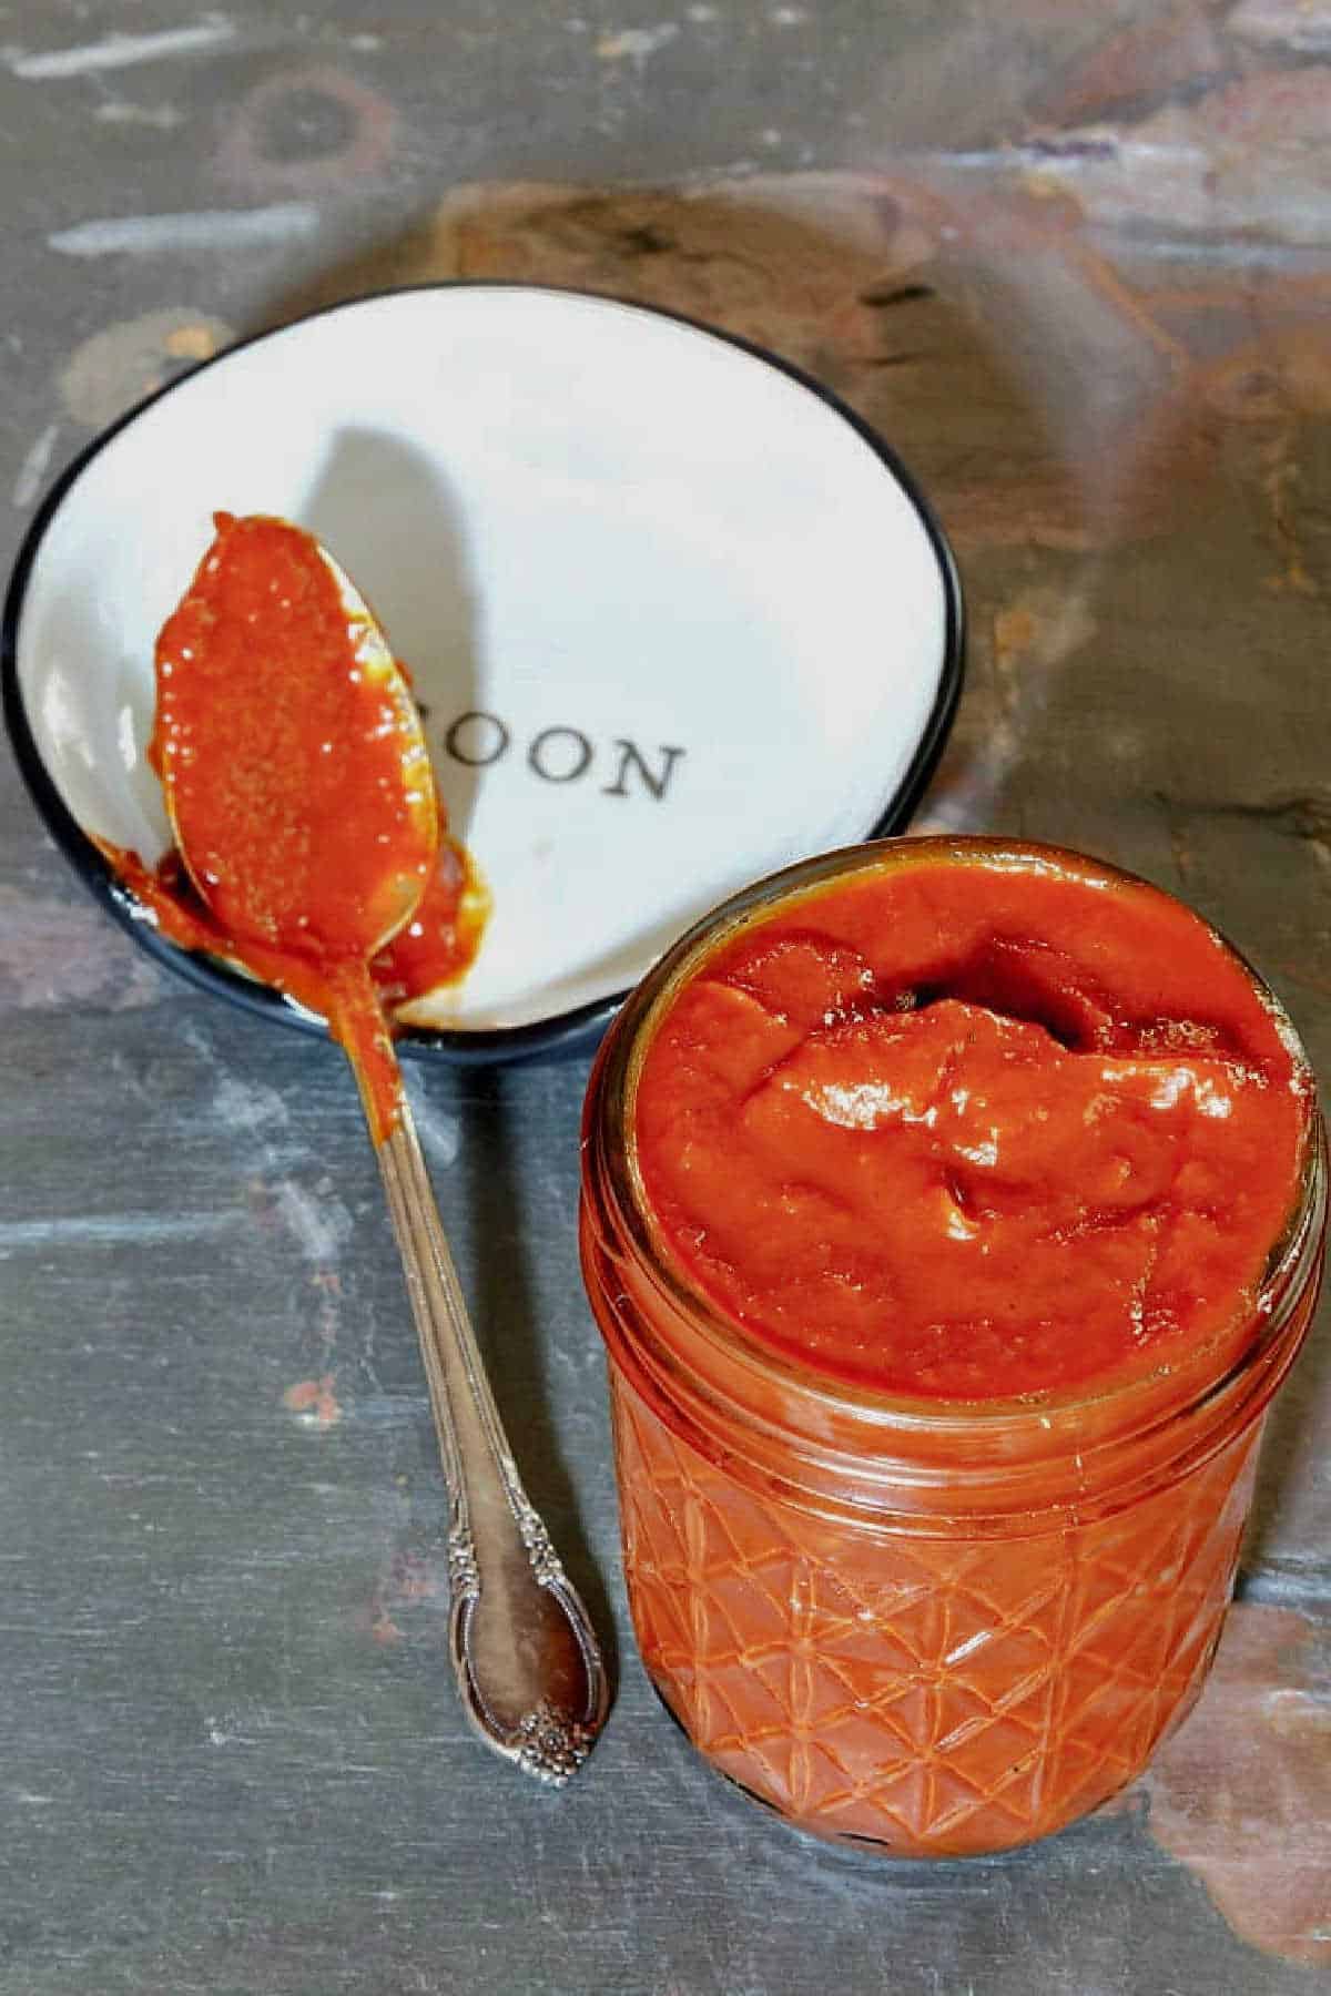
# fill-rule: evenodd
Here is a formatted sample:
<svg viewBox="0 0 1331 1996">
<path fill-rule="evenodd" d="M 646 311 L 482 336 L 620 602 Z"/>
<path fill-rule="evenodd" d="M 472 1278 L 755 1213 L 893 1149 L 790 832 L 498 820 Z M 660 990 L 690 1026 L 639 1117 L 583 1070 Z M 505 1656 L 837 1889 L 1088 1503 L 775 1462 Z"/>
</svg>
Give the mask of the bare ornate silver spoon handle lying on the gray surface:
<svg viewBox="0 0 1331 1996">
<path fill-rule="evenodd" d="M 523 1491 L 405 1100 L 375 1152 L 449 1485 L 449 1647 L 463 1709 L 495 1752 L 563 1786 L 605 1723 L 605 1663 Z"/>
</svg>

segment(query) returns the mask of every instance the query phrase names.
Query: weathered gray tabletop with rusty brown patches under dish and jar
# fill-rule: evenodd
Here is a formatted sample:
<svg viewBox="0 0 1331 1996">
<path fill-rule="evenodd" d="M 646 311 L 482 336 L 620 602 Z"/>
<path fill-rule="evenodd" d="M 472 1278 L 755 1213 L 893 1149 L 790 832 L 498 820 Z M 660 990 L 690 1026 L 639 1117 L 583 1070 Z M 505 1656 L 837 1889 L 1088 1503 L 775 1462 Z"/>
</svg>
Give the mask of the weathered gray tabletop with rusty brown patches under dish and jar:
<svg viewBox="0 0 1331 1996">
<path fill-rule="evenodd" d="M 325 297 L 483 273 L 702 313 L 850 395 L 954 535 L 972 671 L 918 822 L 1185 892 L 1331 1072 L 1323 0 L 46 0 L 0 44 L 6 561 L 98 425 Z M 4 1996 L 1325 1984 L 1325 1319 L 1157 1768 L 1048 1846 L 874 1866 L 732 1798 L 635 1659 L 585 1062 L 413 1074 L 533 1495 L 617 1633 L 563 1796 L 453 1703 L 425 1391 L 339 1058 L 150 968 L 8 762 L 0 1062 Z"/>
</svg>

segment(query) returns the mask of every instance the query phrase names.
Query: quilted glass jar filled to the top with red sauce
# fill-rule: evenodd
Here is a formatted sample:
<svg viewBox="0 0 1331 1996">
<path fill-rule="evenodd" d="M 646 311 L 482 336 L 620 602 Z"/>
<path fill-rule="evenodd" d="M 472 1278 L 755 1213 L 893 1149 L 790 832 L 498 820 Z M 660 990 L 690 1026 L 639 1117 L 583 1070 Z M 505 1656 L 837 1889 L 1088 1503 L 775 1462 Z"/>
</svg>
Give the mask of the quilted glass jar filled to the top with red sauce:
<svg viewBox="0 0 1331 1996">
<path fill-rule="evenodd" d="M 643 1657 L 796 1824 L 1060 1828 L 1219 1633 L 1325 1170 L 1277 1002 L 1052 848 L 894 840 L 718 910 L 589 1090 Z"/>
</svg>

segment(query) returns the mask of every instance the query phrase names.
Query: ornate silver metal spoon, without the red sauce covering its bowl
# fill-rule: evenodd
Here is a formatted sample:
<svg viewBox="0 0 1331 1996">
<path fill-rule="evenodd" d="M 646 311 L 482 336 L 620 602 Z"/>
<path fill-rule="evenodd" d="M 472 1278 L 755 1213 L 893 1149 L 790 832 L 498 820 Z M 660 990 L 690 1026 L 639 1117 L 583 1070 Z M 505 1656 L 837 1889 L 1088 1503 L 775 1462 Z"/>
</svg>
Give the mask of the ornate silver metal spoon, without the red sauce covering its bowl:
<svg viewBox="0 0 1331 1996">
<path fill-rule="evenodd" d="M 357 631 L 361 675 L 397 711 L 403 800 L 421 850 L 433 854 L 437 808 L 415 705 L 353 583 L 325 549 L 319 555 Z M 192 752 L 198 758 L 208 745 L 196 743 Z M 210 882 L 190 860 L 190 826 L 182 824 L 186 812 L 178 808 L 170 758 L 162 782 L 176 844 L 208 902 Z M 517 1473 L 369 974 L 371 958 L 411 920 L 421 892 L 419 868 L 385 874 L 383 892 L 367 910 L 373 932 L 363 936 L 363 950 L 357 946 L 357 960 L 339 968 L 329 1026 L 359 1084 L 429 1381 L 451 1507 L 449 1649 L 463 1711 L 487 1746 L 539 1780 L 563 1786 L 605 1723 L 607 1671 L 587 1611 Z"/>
</svg>

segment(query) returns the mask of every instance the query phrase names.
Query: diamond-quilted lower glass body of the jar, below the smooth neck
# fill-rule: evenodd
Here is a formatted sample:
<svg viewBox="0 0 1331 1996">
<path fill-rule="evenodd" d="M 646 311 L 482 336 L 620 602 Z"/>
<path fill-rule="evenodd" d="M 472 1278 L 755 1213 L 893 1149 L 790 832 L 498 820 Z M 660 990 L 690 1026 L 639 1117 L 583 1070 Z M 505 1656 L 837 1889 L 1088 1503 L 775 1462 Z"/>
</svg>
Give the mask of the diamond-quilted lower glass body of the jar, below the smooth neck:
<svg viewBox="0 0 1331 1996">
<path fill-rule="evenodd" d="M 1257 1429 L 1040 1539 L 882 1537 L 708 1463 L 613 1367 L 629 1599 L 698 1750 L 782 1816 L 906 1856 L 1002 1850 L 1129 1782 L 1205 1677 Z"/>
</svg>

